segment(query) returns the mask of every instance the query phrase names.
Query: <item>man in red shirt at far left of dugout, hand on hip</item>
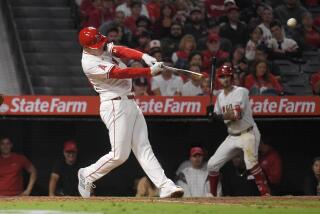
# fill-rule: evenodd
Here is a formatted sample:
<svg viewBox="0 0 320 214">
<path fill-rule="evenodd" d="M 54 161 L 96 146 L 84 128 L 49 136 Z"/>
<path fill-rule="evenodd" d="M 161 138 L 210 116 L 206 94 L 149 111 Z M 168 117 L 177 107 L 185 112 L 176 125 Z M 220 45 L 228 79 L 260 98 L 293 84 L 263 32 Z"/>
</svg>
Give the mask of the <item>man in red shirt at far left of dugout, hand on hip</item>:
<svg viewBox="0 0 320 214">
<path fill-rule="evenodd" d="M 9 138 L 0 139 L 0 196 L 28 196 L 37 180 L 37 170 L 24 155 L 13 153 L 12 147 Z M 26 189 L 23 189 L 23 170 L 30 174 Z"/>
</svg>

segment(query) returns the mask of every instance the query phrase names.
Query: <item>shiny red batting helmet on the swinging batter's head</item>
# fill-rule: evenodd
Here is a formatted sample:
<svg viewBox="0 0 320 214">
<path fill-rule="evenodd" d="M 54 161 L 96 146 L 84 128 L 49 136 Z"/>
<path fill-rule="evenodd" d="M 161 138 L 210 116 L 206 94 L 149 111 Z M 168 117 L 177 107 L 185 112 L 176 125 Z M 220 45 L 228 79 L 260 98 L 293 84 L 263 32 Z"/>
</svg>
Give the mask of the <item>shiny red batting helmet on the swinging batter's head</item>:
<svg viewBox="0 0 320 214">
<path fill-rule="evenodd" d="M 99 49 L 107 41 L 107 37 L 94 27 L 85 27 L 79 32 L 79 42 L 84 48 Z"/>
</svg>

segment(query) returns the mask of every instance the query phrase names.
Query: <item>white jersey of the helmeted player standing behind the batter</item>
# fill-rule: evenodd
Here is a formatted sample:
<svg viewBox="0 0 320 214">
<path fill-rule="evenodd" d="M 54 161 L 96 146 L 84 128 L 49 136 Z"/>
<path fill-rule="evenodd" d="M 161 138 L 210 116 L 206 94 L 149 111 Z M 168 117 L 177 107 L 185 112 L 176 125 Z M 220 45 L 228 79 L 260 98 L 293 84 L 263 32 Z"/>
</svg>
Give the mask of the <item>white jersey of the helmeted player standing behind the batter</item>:
<svg viewBox="0 0 320 214">
<path fill-rule="evenodd" d="M 235 109 L 237 106 L 241 108 L 241 119 L 224 121 L 228 126 L 229 133 L 239 133 L 251 126 L 256 126 L 252 117 L 249 91 L 243 87 L 233 86 L 233 89 L 227 95 L 222 91 L 217 97 L 214 112 L 223 114 L 227 110 Z"/>
</svg>

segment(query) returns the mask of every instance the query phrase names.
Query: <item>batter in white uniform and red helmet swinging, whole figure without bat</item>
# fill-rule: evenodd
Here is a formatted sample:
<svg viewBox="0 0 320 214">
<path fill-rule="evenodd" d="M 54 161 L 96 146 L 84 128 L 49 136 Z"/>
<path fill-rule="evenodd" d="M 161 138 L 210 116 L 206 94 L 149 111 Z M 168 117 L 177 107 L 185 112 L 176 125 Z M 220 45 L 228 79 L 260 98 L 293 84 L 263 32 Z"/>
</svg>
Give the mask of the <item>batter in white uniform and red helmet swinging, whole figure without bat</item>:
<svg viewBox="0 0 320 214">
<path fill-rule="evenodd" d="M 96 163 L 78 172 L 78 189 L 90 197 L 93 182 L 127 160 L 131 150 L 156 187 L 160 197 L 182 197 L 184 191 L 168 179 L 153 154 L 142 111 L 131 93 L 131 78 L 154 76 L 162 71 L 162 62 L 123 46 L 114 46 L 93 27 L 79 32 L 83 47 L 82 68 L 100 95 L 100 116 L 109 130 L 111 151 Z M 151 67 L 127 68 L 120 58 L 143 60 Z"/>
</svg>

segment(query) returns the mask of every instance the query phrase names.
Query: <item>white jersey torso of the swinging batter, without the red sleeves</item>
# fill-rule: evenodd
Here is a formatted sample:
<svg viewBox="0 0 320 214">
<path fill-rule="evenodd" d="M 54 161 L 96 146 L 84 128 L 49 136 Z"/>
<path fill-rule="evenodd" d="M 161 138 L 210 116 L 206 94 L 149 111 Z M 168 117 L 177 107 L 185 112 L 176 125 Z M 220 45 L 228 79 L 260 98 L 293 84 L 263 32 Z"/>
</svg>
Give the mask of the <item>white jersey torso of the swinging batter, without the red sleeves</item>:
<svg viewBox="0 0 320 214">
<path fill-rule="evenodd" d="M 85 75 L 99 93 L 101 101 L 131 93 L 131 79 L 109 79 L 108 73 L 117 65 L 120 68 L 127 66 L 117 57 L 112 56 L 113 43 L 107 45 L 107 50 L 101 56 L 94 56 L 83 51 L 82 68 Z"/>
</svg>

